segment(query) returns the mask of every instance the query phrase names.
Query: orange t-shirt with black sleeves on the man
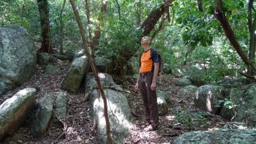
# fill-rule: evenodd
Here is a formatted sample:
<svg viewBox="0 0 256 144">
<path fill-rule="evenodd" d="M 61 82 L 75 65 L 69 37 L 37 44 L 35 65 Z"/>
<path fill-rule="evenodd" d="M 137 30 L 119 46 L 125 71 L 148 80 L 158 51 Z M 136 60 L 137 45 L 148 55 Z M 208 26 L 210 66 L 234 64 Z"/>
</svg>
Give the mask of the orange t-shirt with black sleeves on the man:
<svg viewBox="0 0 256 144">
<path fill-rule="evenodd" d="M 140 72 L 153 72 L 154 63 L 159 63 L 157 51 L 151 49 L 144 51 L 140 58 Z"/>
</svg>

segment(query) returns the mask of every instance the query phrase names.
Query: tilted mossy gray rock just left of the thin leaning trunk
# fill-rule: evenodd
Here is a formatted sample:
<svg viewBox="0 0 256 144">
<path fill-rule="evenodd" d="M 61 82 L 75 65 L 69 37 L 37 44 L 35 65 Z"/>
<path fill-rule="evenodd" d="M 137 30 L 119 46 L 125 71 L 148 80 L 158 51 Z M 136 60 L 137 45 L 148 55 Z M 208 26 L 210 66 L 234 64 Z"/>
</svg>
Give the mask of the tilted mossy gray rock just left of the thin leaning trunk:
<svg viewBox="0 0 256 144">
<path fill-rule="evenodd" d="M 62 88 L 70 93 L 78 93 L 83 78 L 86 75 L 87 61 L 86 56 L 75 58 L 62 83 Z"/>
</svg>

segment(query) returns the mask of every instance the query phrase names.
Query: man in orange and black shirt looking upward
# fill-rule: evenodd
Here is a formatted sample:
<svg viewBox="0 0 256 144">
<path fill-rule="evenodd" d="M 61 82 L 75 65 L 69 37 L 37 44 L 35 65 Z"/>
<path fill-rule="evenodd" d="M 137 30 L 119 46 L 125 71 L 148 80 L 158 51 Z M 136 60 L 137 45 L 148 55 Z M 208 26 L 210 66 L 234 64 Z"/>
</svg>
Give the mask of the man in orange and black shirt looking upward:
<svg viewBox="0 0 256 144">
<path fill-rule="evenodd" d="M 143 37 L 140 41 L 143 53 L 140 56 L 140 70 L 135 89 L 140 88 L 140 96 L 146 111 L 146 131 L 156 130 L 159 125 L 157 105 L 157 76 L 159 71 L 159 54 L 150 48 L 151 38 Z"/>
</svg>

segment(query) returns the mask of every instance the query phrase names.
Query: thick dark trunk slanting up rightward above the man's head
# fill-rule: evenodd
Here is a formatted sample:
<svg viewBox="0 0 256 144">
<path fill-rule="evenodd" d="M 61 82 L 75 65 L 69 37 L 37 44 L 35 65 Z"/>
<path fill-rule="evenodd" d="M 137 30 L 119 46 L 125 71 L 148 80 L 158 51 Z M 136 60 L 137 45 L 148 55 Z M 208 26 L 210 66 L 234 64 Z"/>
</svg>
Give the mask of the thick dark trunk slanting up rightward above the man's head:
<svg viewBox="0 0 256 144">
<path fill-rule="evenodd" d="M 157 7 L 155 10 L 152 10 L 151 13 L 148 15 L 146 20 L 141 24 L 140 29 L 143 29 L 143 35 L 146 36 L 150 34 L 154 26 L 157 24 L 159 18 L 161 18 L 162 14 L 166 12 L 166 9 L 170 7 L 170 4 L 173 0 L 167 0 L 164 4 L 161 4 L 160 7 Z"/>
</svg>

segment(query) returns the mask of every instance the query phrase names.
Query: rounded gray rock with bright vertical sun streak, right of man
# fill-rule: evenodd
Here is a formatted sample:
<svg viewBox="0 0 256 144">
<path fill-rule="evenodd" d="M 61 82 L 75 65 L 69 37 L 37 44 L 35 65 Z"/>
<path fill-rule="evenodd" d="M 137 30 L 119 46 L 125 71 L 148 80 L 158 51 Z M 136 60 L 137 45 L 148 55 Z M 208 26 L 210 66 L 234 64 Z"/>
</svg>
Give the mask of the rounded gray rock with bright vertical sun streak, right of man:
<svg viewBox="0 0 256 144">
<path fill-rule="evenodd" d="M 219 107 L 214 106 L 219 104 L 219 100 L 225 99 L 223 91 L 225 90 L 222 86 L 200 86 L 195 93 L 195 106 L 200 110 L 216 114 Z"/>
</svg>

